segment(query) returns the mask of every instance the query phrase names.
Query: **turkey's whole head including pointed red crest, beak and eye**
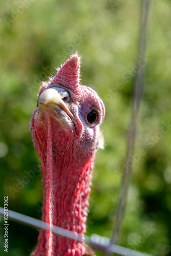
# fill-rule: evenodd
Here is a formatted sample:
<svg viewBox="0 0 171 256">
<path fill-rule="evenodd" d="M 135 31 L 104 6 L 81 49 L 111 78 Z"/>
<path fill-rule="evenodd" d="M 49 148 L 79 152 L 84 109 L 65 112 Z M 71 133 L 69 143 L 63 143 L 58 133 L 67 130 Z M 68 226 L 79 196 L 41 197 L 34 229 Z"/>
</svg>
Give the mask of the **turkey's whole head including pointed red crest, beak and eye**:
<svg viewBox="0 0 171 256">
<path fill-rule="evenodd" d="M 58 69 L 55 77 L 42 83 L 31 122 L 35 148 L 41 150 L 42 137 L 45 141 L 48 138 L 49 117 L 53 143 L 61 154 L 66 148 L 74 148 L 75 156 L 88 159 L 101 147 L 104 104 L 93 89 L 80 84 L 79 70 L 80 57 L 76 54 Z"/>
</svg>

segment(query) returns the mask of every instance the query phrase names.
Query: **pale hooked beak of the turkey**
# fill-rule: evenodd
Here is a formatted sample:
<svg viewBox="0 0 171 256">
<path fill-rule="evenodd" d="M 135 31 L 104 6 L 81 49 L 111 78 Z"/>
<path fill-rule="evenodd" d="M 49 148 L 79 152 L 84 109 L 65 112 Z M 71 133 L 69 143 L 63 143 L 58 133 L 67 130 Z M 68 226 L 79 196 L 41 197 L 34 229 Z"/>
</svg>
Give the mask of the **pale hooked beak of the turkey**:
<svg viewBox="0 0 171 256">
<path fill-rule="evenodd" d="M 63 111 L 66 112 L 66 114 L 73 120 L 74 116 L 71 113 L 71 111 L 68 109 L 68 106 L 63 102 L 63 100 L 60 97 L 60 94 L 57 90 L 53 88 L 46 89 L 44 92 L 40 94 L 38 97 L 37 103 L 40 105 L 40 107 L 48 111 L 48 107 L 51 103 L 59 106 Z"/>
</svg>

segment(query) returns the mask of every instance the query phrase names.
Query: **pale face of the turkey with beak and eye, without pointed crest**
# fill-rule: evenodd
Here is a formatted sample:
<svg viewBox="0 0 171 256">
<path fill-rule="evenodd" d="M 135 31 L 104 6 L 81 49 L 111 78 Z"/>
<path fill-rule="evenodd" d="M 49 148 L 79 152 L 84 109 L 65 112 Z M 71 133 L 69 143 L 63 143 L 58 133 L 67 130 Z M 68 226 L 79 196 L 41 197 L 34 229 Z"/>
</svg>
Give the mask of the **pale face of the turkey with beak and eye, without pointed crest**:
<svg viewBox="0 0 171 256">
<path fill-rule="evenodd" d="M 50 115 L 55 137 L 61 136 L 61 131 L 69 134 L 88 157 L 100 147 L 100 124 L 105 109 L 97 93 L 89 87 L 81 85 L 80 98 L 76 96 L 60 84 L 47 85 L 44 91 L 40 90 L 35 118 L 42 124 L 42 129 L 46 129 L 47 116 Z"/>
</svg>

